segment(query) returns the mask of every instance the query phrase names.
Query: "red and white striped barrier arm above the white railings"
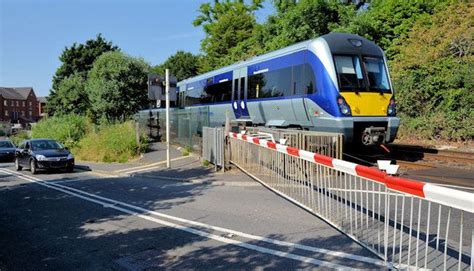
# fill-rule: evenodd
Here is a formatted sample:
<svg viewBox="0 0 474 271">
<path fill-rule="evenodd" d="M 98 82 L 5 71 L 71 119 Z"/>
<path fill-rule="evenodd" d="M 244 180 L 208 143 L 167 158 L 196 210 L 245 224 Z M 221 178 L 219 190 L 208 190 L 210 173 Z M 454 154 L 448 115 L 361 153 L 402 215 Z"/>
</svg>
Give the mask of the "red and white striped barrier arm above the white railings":
<svg viewBox="0 0 474 271">
<path fill-rule="evenodd" d="M 273 149 L 280 153 L 299 157 L 303 160 L 313 162 L 315 164 L 327 166 L 353 176 L 363 177 L 371 181 L 383 183 L 387 186 L 387 188 L 391 190 L 403 192 L 406 194 L 424 198 L 432 202 L 474 213 L 473 193 L 450 189 L 435 184 L 424 183 L 421 181 L 391 176 L 375 168 L 370 168 L 344 160 L 335 159 L 329 156 L 277 144 L 271 141 L 251 137 L 245 134 L 231 132 L 229 133 L 229 136 L 268 149 Z"/>
</svg>

